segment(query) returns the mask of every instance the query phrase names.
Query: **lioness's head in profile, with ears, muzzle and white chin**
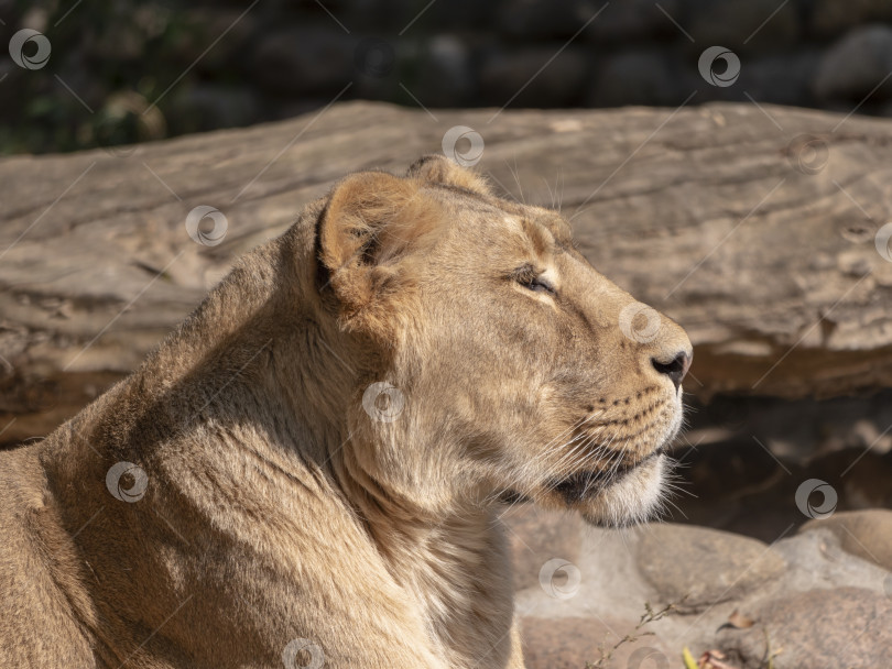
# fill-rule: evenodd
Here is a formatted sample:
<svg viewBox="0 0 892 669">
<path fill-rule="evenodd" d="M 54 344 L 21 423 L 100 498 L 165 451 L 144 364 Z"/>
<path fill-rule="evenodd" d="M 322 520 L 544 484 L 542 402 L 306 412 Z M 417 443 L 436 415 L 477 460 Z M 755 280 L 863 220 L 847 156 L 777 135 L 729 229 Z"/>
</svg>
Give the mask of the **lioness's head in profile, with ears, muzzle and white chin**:
<svg viewBox="0 0 892 669">
<path fill-rule="evenodd" d="M 529 498 L 623 525 L 659 504 L 685 332 L 548 209 L 439 157 L 355 174 L 316 230 L 319 318 L 357 369 L 351 475 L 421 511 Z"/>
</svg>

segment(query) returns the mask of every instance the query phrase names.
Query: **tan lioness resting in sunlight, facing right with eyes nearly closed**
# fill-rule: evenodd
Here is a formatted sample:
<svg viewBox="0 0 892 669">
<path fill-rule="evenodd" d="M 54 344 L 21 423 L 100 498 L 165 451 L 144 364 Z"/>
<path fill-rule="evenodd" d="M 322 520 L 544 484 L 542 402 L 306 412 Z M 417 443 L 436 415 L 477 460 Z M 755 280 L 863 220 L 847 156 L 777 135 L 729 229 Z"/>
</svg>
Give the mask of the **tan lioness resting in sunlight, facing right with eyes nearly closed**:
<svg viewBox="0 0 892 669">
<path fill-rule="evenodd" d="M 690 355 L 554 211 L 348 176 L 0 453 L 0 665 L 523 667 L 500 504 L 648 516 Z"/>
</svg>

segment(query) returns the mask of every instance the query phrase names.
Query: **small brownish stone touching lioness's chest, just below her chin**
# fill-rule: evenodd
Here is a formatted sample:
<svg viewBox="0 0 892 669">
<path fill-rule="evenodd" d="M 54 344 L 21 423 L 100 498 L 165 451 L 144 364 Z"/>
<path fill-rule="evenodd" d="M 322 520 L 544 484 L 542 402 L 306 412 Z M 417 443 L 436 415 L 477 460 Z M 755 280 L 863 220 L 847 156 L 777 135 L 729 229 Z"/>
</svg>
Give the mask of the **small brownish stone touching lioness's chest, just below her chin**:
<svg viewBox="0 0 892 669">
<path fill-rule="evenodd" d="M 515 506 L 502 516 L 511 545 L 514 588 L 540 584 L 540 571 L 548 560 L 579 559 L 581 518 L 577 514 L 542 511 L 532 504 Z"/>
</svg>

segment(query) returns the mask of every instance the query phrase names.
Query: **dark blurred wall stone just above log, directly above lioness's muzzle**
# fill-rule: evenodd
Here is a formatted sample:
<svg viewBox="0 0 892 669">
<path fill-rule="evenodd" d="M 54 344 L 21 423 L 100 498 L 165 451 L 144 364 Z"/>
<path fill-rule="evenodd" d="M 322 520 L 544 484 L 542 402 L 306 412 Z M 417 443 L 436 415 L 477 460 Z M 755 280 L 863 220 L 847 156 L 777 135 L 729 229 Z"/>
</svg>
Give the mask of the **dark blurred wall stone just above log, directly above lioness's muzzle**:
<svg viewBox="0 0 892 669">
<path fill-rule="evenodd" d="M 586 105 L 675 107 L 690 94 L 677 86 L 676 69 L 675 63 L 656 51 L 633 51 L 608 56 L 598 67 Z"/>
</svg>

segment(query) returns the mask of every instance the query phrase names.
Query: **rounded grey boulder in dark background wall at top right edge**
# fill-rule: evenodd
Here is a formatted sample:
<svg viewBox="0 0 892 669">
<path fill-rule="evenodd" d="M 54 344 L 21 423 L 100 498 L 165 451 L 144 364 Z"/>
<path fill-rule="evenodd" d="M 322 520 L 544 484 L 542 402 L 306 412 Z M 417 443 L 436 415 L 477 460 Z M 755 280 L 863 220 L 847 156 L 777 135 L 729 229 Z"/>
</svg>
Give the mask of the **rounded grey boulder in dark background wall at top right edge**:
<svg viewBox="0 0 892 669">
<path fill-rule="evenodd" d="M 860 101 L 892 70 L 892 28 L 858 28 L 834 44 L 818 66 L 813 89 L 823 100 Z M 885 80 L 871 100 L 892 96 L 892 81 Z"/>
</svg>

